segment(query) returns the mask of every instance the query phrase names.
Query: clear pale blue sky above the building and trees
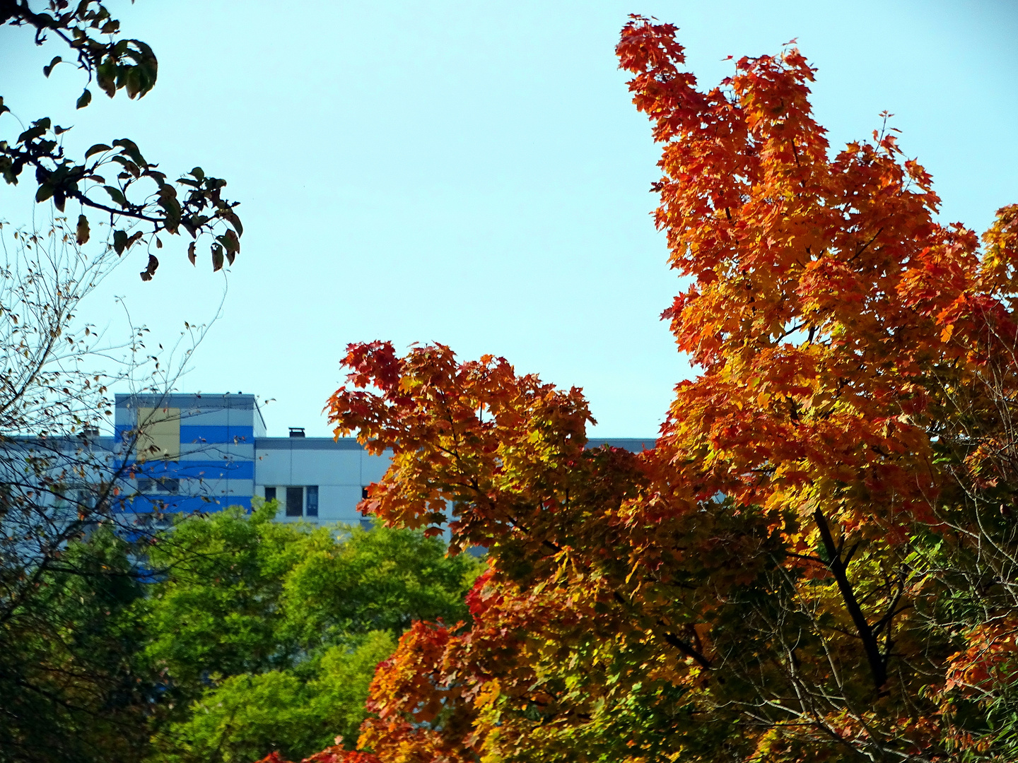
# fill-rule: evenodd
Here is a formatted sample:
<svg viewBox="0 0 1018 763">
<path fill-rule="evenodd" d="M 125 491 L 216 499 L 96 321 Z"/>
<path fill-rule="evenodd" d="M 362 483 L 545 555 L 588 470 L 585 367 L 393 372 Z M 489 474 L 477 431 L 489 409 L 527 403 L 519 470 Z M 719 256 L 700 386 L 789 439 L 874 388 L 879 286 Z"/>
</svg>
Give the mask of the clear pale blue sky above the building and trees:
<svg viewBox="0 0 1018 763">
<path fill-rule="evenodd" d="M 154 281 L 136 251 L 82 312 L 114 331 L 119 297 L 167 345 L 216 318 L 178 389 L 254 393 L 272 435 L 329 434 L 339 359 L 376 339 L 581 387 L 596 436 L 658 431 L 695 369 L 660 319 L 681 282 L 649 216 L 659 150 L 614 56 L 631 12 L 680 27 L 701 86 L 796 39 L 832 145 L 892 112 L 944 222 L 981 232 L 1018 201 L 1018 0 L 107 5 L 155 50 L 155 90 L 75 112 L 84 75 L 44 78 L 61 51 L 0 30 L 0 137 L 52 116 L 69 149 L 130 137 L 171 176 L 228 180 L 244 223 L 228 273 L 164 237 Z M 49 214 L 29 186 L 0 188 L 0 219 Z"/>
</svg>

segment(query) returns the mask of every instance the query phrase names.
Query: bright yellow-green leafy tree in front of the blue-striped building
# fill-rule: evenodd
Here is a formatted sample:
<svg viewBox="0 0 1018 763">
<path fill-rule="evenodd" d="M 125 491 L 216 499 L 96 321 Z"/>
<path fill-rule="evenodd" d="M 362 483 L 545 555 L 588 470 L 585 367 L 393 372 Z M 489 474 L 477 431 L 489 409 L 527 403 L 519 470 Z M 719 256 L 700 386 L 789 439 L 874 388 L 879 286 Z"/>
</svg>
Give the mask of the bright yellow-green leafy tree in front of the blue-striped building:
<svg viewBox="0 0 1018 763">
<path fill-rule="evenodd" d="M 416 620 L 469 620 L 479 565 L 440 539 L 273 521 L 275 503 L 181 518 L 151 554 L 146 658 L 168 722 L 152 761 L 300 758 L 354 742 L 375 666 Z"/>
</svg>

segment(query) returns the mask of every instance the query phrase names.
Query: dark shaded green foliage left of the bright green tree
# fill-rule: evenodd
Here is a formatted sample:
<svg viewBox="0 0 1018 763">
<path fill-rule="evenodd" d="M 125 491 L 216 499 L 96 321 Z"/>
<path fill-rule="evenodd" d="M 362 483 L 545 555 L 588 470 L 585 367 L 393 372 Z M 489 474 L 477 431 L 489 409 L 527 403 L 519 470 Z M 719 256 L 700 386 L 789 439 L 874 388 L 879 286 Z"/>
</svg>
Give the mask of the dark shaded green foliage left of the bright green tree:
<svg viewBox="0 0 1018 763">
<path fill-rule="evenodd" d="M 109 528 L 71 543 L 0 624 L 0 761 L 135 761 L 155 719 L 127 544 Z"/>
</svg>

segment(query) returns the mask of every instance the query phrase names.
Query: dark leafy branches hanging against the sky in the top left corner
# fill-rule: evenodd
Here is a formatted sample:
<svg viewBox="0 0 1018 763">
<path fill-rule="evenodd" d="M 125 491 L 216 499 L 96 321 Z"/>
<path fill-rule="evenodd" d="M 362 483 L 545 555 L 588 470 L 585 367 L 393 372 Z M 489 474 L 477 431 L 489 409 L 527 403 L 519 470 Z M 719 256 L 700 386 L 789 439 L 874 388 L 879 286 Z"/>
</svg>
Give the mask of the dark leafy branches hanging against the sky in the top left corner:
<svg viewBox="0 0 1018 763">
<path fill-rule="evenodd" d="M 118 39 L 120 22 L 110 17 L 102 3 L 82 0 L 72 10 L 67 0 L 50 0 L 47 11 L 36 12 L 27 0 L 0 0 L 0 23 L 34 30 L 37 45 L 43 45 L 48 36 L 64 42 L 73 51 L 77 68 L 88 74 L 89 83 L 95 81 L 110 98 L 119 90 L 128 98 L 143 98 L 156 83 L 158 62 L 152 49 L 139 40 Z M 108 39 L 104 42 L 99 39 L 102 36 Z M 60 56 L 54 57 L 43 73 L 49 77 L 62 62 Z M 87 86 L 76 106 L 84 108 L 91 101 Z M 0 117 L 9 111 L 0 97 Z M 223 197 L 225 180 L 207 176 L 195 167 L 176 181 L 168 181 L 166 173 L 146 160 L 128 138 L 95 143 L 81 159 L 71 158 L 61 138 L 68 129 L 43 117 L 16 138 L 0 139 L 0 175 L 8 184 L 17 184 L 26 169 L 34 171 L 36 200 L 52 200 L 60 212 L 68 200 L 77 201 L 81 207 L 78 244 L 91 237 L 86 214 L 91 211 L 108 218 L 117 254 L 139 242 L 149 244 L 143 281 L 150 281 L 159 267 L 151 249 L 153 244 L 162 248 L 160 233 L 177 235 L 183 229 L 191 237 L 187 256 L 192 265 L 197 240 L 208 234 L 213 270 L 233 263 L 243 226 L 234 211 L 238 202 Z"/>
</svg>

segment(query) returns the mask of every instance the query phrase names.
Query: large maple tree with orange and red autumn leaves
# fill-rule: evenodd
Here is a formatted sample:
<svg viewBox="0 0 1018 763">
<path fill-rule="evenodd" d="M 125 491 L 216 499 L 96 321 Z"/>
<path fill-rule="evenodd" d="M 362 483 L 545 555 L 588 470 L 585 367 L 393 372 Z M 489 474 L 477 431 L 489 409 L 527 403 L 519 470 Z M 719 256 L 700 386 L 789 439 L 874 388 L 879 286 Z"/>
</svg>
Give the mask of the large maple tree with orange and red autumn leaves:
<svg viewBox="0 0 1018 763">
<path fill-rule="evenodd" d="M 504 359 L 350 346 L 331 420 L 393 453 L 362 510 L 451 508 L 490 569 L 337 761 L 1013 759 L 1018 207 L 980 246 L 894 130 L 833 154 L 797 49 L 704 92 L 675 33 L 617 53 L 699 373 L 633 454 Z"/>
</svg>

